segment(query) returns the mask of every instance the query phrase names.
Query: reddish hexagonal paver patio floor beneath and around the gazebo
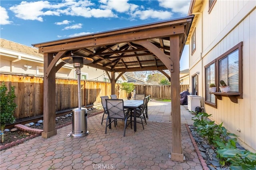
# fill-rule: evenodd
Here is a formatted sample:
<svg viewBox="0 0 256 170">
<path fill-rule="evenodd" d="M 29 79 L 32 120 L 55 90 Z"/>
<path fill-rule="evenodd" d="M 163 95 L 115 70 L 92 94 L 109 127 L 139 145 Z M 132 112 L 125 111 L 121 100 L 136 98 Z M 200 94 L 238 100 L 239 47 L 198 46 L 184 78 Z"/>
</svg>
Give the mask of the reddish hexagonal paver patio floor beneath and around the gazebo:
<svg viewBox="0 0 256 170">
<path fill-rule="evenodd" d="M 57 130 L 50 138 L 41 136 L 1 151 L 1 170 L 93 170 L 93 169 L 175 169 L 202 170 L 194 146 L 184 123 L 193 117 L 184 106 L 182 117 L 182 150 L 186 160 L 170 160 L 172 124 L 170 103 L 149 102 L 148 122 L 137 125 L 137 131 L 128 127 L 123 137 L 123 123 L 108 129 L 100 125 L 102 114 L 88 118 L 88 136 L 68 137 L 72 125 Z"/>
</svg>

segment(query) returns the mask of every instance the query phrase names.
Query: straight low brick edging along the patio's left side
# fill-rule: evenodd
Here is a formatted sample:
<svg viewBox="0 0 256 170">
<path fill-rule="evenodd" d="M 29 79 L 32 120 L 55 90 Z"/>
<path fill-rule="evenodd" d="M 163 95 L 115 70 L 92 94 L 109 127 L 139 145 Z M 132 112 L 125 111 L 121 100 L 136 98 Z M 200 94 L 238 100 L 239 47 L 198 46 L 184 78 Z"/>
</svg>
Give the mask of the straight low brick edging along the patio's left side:
<svg viewBox="0 0 256 170">
<path fill-rule="evenodd" d="M 95 115 L 98 115 L 98 114 L 103 113 L 103 112 L 104 111 L 100 111 L 98 113 L 93 113 L 91 115 L 88 115 L 88 118 L 92 117 L 92 116 L 95 116 Z M 56 127 L 56 129 L 59 129 L 59 128 L 62 128 L 62 127 L 65 127 L 65 126 L 68 126 L 68 125 L 71 125 L 71 124 L 72 124 L 72 122 L 69 122 L 69 123 L 66 123 L 66 124 L 63 124 L 63 125 L 60 125 L 60 126 Z M 14 146 L 16 144 L 20 144 L 20 143 L 24 142 L 25 140 L 29 140 L 29 139 L 32 139 L 32 138 L 35 138 L 35 137 L 38 137 L 38 136 L 41 136 L 41 133 L 32 134 L 31 136 L 28 136 L 26 138 L 22 138 L 22 139 L 16 140 L 15 142 L 10 142 L 8 144 L 2 145 L 2 146 L 0 146 L 0 151 L 4 150 L 4 149 L 7 149 L 7 148 L 10 148 L 11 146 Z"/>
</svg>

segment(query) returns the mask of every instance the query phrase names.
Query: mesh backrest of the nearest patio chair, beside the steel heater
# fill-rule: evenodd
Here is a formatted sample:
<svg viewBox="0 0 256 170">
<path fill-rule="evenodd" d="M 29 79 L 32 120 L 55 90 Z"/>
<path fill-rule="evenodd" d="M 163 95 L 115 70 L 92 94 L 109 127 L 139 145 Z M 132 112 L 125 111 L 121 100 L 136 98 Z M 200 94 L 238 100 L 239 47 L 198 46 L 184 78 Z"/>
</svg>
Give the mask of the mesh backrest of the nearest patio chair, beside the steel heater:
<svg viewBox="0 0 256 170">
<path fill-rule="evenodd" d="M 110 119 L 125 119 L 123 99 L 106 99 L 106 105 Z"/>
</svg>

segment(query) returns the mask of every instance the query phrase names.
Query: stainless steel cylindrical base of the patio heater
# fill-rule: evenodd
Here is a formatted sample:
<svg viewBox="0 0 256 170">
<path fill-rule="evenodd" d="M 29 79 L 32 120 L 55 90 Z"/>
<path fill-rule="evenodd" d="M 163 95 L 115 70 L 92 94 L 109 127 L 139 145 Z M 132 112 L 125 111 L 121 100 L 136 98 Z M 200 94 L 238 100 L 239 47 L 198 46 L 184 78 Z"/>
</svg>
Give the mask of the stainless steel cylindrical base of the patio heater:
<svg viewBox="0 0 256 170">
<path fill-rule="evenodd" d="M 87 109 L 86 108 L 76 108 L 72 110 L 72 136 L 74 138 L 80 138 L 87 136 L 89 131 L 87 130 Z"/>
</svg>

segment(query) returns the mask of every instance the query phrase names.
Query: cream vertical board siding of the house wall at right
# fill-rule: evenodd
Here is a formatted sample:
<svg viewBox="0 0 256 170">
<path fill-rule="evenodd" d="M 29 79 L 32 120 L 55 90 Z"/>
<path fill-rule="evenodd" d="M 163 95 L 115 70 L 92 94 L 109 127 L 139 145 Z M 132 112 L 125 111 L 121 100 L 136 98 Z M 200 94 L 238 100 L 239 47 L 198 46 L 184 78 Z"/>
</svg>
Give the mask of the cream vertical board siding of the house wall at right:
<svg viewBox="0 0 256 170">
<path fill-rule="evenodd" d="M 217 124 L 223 122 L 228 131 L 237 134 L 238 138 L 252 150 L 256 150 L 255 6 L 256 1 L 218 0 L 210 14 L 208 1 L 204 1 L 202 6 L 203 66 L 243 42 L 243 99 L 233 103 L 228 97 L 222 97 L 222 100 L 217 100 L 217 109 L 204 105 L 204 111 L 212 114 L 211 119 Z M 240 132 L 237 129 L 240 129 Z"/>
</svg>

